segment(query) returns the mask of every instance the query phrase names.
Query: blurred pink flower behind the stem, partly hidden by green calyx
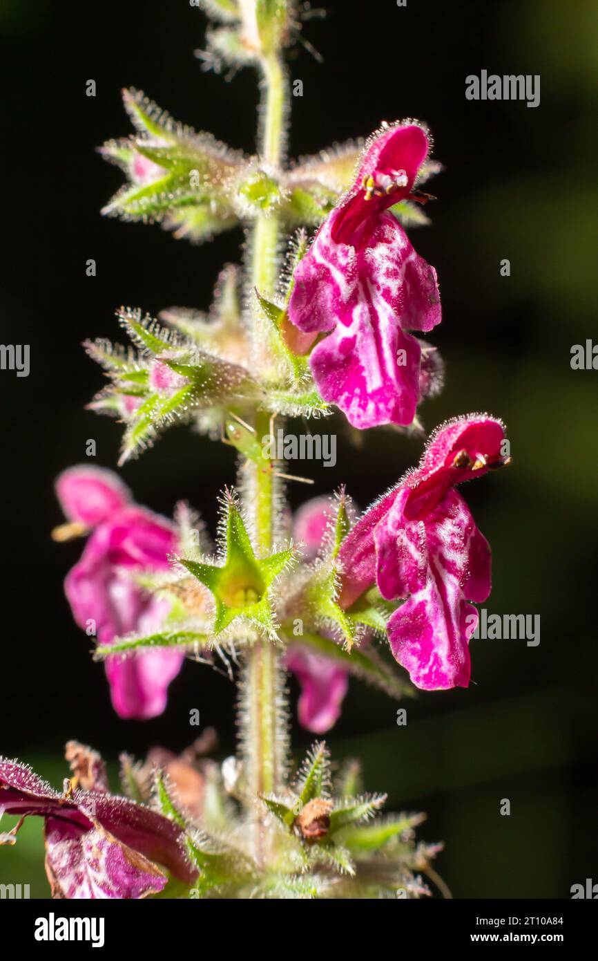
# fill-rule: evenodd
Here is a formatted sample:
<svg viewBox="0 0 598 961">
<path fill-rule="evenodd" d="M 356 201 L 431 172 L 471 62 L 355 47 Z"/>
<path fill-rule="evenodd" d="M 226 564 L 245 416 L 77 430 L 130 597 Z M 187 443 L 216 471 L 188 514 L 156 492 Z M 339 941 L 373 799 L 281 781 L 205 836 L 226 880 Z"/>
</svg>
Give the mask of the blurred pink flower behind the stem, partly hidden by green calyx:
<svg viewBox="0 0 598 961">
<path fill-rule="evenodd" d="M 313 560 L 323 544 L 330 518 L 330 500 L 315 497 L 299 507 L 293 522 L 295 539 L 303 545 L 307 560 Z M 347 694 L 347 671 L 321 654 L 291 646 L 286 665 L 299 680 L 299 724 L 315 734 L 323 734 L 336 724 Z"/>
</svg>

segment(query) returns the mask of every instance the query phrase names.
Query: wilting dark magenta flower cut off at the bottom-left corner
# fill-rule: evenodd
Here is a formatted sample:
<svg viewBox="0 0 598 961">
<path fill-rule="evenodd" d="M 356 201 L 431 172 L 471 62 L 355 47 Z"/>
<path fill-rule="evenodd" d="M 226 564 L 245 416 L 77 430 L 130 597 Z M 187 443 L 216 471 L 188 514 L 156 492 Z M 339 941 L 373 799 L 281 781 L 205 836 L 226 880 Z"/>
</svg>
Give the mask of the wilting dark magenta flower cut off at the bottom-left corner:
<svg viewBox="0 0 598 961">
<path fill-rule="evenodd" d="M 93 790 L 72 790 L 74 784 L 60 795 L 30 768 L 0 757 L 0 816 L 6 811 L 44 819 L 53 898 L 146 898 L 167 883 L 158 864 L 191 884 L 197 872 L 178 825 L 108 794 L 102 781 Z"/>
</svg>

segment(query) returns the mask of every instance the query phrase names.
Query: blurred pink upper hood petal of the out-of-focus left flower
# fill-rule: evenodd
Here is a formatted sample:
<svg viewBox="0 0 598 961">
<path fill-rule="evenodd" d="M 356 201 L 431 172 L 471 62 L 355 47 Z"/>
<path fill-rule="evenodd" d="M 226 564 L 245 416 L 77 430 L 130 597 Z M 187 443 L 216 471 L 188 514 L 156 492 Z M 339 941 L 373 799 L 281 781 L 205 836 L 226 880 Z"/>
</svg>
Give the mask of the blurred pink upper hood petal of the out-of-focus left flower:
<svg viewBox="0 0 598 961">
<path fill-rule="evenodd" d="M 69 521 L 95 528 L 131 501 L 131 493 L 112 471 L 80 465 L 63 471 L 56 481 L 60 506 Z"/>
</svg>

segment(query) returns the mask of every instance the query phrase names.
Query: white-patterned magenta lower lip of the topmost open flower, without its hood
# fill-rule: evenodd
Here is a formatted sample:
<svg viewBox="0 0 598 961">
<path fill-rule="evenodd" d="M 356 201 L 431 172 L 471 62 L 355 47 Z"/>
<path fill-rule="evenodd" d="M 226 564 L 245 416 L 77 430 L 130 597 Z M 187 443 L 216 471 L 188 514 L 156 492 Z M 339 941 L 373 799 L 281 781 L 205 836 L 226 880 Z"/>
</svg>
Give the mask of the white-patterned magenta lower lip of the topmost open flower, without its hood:
<svg viewBox="0 0 598 961">
<path fill-rule="evenodd" d="M 411 424 L 419 402 L 419 341 L 441 320 L 436 272 L 419 257 L 390 213 L 368 246 L 331 238 L 333 211 L 300 261 L 289 317 L 302 331 L 332 331 L 310 356 L 323 396 L 363 429 Z"/>
</svg>

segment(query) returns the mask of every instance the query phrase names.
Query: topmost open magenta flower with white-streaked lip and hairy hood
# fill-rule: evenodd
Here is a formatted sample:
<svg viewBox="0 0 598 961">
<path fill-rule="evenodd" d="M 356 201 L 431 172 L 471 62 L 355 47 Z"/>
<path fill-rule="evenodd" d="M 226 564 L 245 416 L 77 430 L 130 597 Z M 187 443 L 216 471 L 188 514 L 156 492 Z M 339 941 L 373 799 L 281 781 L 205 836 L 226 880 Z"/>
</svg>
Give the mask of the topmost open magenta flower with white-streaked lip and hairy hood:
<svg viewBox="0 0 598 961">
<path fill-rule="evenodd" d="M 415 124 L 374 136 L 295 272 L 289 319 L 328 334 L 311 353 L 312 373 L 356 428 L 412 423 L 424 384 L 419 340 L 407 332 L 441 321 L 436 271 L 387 209 L 410 194 L 427 153 Z"/>
</svg>

